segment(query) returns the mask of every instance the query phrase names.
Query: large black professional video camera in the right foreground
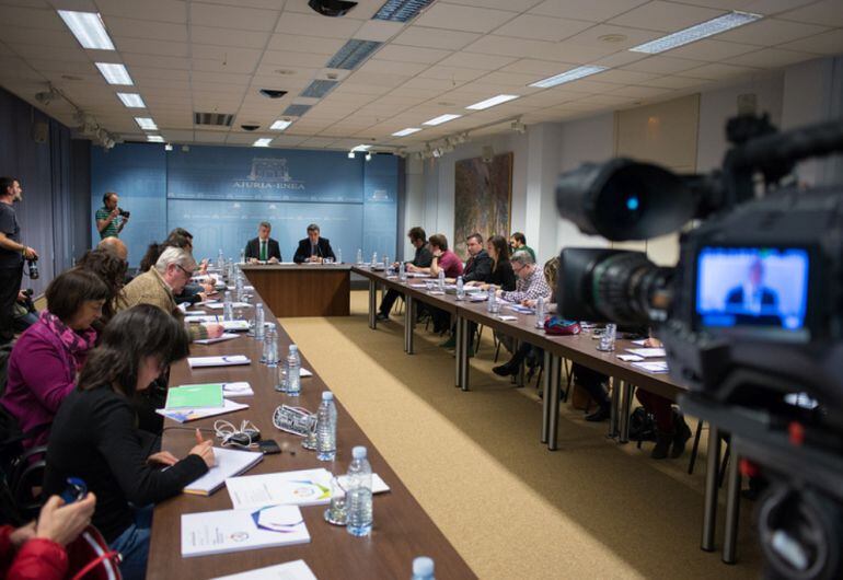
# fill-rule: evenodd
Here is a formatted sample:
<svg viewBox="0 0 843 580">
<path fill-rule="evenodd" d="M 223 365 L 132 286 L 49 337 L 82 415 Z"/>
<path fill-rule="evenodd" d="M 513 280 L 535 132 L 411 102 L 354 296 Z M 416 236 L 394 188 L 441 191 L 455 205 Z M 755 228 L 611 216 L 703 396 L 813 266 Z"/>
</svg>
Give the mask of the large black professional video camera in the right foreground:
<svg viewBox="0 0 843 580">
<path fill-rule="evenodd" d="M 843 151 L 843 123 L 778 134 L 766 116 L 739 116 L 727 137 L 709 175 L 615 159 L 559 177 L 559 212 L 584 233 L 682 230 L 674 268 L 639 252 L 563 250 L 561 312 L 654 326 L 689 386 L 683 408 L 731 433 L 771 482 L 758 510 L 767 576 L 841 578 L 843 184 L 801 189 L 792 174 Z"/>
</svg>

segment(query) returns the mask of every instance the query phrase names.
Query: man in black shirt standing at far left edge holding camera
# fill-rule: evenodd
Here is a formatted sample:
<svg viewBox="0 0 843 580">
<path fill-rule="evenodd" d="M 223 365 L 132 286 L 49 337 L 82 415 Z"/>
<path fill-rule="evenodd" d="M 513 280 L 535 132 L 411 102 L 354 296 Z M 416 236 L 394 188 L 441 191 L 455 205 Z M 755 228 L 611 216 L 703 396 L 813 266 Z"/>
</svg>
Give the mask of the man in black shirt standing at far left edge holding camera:
<svg viewBox="0 0 843 580">
<path fill-rule="evenodd" d="M 14 337 L 14 303 L 21 290 L 23 260 L 38 259 L 38 253 L 21 243 L 21 227 L 12 204 L 23 197 L 21 183 L 0 177 L 0 345 Z"/>
</svg>

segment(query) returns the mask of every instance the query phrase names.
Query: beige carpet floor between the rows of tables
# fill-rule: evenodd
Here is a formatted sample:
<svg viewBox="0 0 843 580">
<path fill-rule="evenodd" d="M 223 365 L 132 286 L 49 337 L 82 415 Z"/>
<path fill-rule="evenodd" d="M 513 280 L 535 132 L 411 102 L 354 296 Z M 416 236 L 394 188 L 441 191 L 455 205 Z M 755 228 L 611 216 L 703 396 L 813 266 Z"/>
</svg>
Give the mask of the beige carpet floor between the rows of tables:
<svg viewBox="0 0 843 580">
<path fill-rule="evenodd" d="M 417 353 L 407 356 L 402 317 L 373 332 L 367 304 L 356 291 L 349 317 L 281 322 L 477 576 L 760 576 L 751 503 L 742 506 L 738 565 L 698 548 L 704 443 L 689 476 L 688 453 L 653 461 L 649 444 L 619 445 L 604 437 L 607 424 L 564 408 L 561 449 L 550 452 L 539 442 L 535 388 L 490 372 L 488 336 L 463 393 L 438 337 L 419 328 Z"/>
</svg>

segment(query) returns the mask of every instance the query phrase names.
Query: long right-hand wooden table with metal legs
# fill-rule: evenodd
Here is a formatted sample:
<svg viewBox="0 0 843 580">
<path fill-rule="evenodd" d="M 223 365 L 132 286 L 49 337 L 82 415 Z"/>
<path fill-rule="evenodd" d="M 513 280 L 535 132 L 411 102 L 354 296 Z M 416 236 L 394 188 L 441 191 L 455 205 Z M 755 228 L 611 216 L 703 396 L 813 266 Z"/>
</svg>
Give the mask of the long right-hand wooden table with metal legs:
<svg viewBox="0 0 843 580">
<path fill-rule="evenodd" d="M 454 366 L 454 384 L 463 391 L 470 385 L 469 357 L 469 322 L 488 326 L 518 340 L 527 341 L 544 350 L 543 373 L 543 414 L 541 441 L 547 449 L 558 449 L 558 417 L 559 417 L 559 382 L 562 378 L 562 359 L 578 362 L 607 374 L 612 380 L 612 407 L 609 436 L 616 438 L 619 443 L 627 443 L 630 434 L 630 411 L 635 387 L 677 401 L 688 387 L 674 382 L 668 374 L 654 374 L 637 370 L 631 363 L 617 358 L 615 352 L 633 347 L 628 340 L 617 340 L 615 352 L 601 352 L 596 348 L 590 333 L 576 336 L 550 336 L 543 328 L 535 326 L 534 314 L 521 314 L 505 310 L 501 314 L 516 316 L 516 321 L 501 321 L 498 316 L 486 312 L 486 302 L 458 301 L 453 294 L 431 294 L 426 289 L 414 285 L 424 283 L 424 278 L 408 278 L 400 281 L 395 276 L 388 276 L 383 270 L 372 270 L 366 265 L 356 265 L 351 271 L 369 280 L 369 326 L 376 329 L 377 292 L 379 287 L 393 289 L 404 295 L 404 350 L 412 355 L 414 351 L 415 304 L 424 302 L 431 306 L 449 312 L 455 318 L 457 352 Z M 715 531 L 717 518 L 717 495 L 719 482 L 719 459 L 721 451 L 720 434 L 712 425 L 708 432 L 708 446 L 705 473 L 705 501 L 703 510 L 701 547 L 706 552 L 715 549 Z M 726 540 L 724 542 L 724 561 L 736 561 L 737 521 L 740 499 L 740 473 L 737 468 L 738 459 L 730 460 L 727 492 Z"/>
</svg>

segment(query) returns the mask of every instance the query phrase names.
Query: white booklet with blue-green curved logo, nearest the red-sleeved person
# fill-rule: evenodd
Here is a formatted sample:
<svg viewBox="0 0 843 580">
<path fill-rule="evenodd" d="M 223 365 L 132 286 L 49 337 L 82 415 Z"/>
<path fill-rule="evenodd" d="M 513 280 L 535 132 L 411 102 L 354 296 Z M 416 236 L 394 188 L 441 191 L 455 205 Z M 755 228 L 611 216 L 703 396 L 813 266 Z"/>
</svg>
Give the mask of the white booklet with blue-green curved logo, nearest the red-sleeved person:
<svg viewBox="0 0 843 580">
<path fill-rule="evenodd" d="M 308 542 L 308 526 L 296 506 L 182 514 L 184 558 Z"/>
</svg>

